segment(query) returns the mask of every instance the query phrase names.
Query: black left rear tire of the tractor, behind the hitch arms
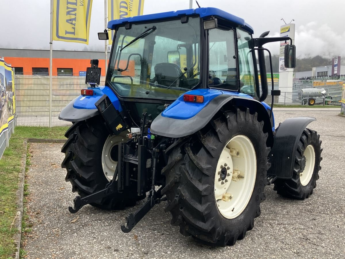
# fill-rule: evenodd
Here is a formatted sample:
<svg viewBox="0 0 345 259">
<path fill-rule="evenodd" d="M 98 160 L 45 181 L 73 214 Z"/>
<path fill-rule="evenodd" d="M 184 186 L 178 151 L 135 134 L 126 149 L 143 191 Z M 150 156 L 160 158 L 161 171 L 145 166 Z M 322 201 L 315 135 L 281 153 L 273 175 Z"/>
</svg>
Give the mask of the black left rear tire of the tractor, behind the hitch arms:
<svg viewBox="0 0 345 259">
<path fill-rule="evenodd" d="M 68 140 L 61 148 L 61 152 L 65 153 L 61 167 L 67 169 L 65 180 L 72 184 L 72 192 L 78 192 L 81 197 L 85 197 L 104 189 L 109 183 L 103 173 L 101 159 L 103 146 L 109 136 L 105 124 L 96 116 L 74 123 L 65 136 Z M 134 206 L 137 200 L 139 197 L 135 185 L 122 193 L 118 193 L 116 188 L 113 196 L 91 205 L 106 210 L 118 210 Z"/>
</svg>

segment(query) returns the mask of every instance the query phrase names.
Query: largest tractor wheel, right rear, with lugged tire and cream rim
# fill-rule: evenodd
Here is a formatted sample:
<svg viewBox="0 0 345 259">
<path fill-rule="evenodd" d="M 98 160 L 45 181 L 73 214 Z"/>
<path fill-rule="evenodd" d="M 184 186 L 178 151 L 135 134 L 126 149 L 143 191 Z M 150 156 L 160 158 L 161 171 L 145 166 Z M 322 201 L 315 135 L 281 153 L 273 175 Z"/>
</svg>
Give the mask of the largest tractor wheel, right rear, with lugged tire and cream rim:
<svg viewBox="0 0 345 259">
<path fill-rule="evenodd" d="M 171 224 L 179 226 L 182 234 L 225 246 L 243 239 L 253 228 L 265 200 L 264 179 L 269 169 L 268 133 L 263 126 L 249 109 L 218 113 L 205 128 L 180 139 L 171 150 L 162 170 L 166 176 L 162 192 L 168 198 Z M 224 156 L 226 148 L 230 151 Z M 248 157 L 241 160 L 241 156 Z M 221 186 L 225 186 L 224 193 L 220 193 Z"/>
</svg>

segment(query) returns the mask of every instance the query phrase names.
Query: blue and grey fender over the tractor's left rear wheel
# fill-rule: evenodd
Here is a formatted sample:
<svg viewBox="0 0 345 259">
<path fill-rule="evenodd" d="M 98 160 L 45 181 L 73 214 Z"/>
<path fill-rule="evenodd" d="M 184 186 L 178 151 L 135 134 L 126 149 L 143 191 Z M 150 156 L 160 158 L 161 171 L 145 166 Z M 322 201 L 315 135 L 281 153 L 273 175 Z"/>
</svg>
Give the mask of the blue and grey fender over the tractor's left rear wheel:
<svg viewBox="0 0 345 259">
<path fill-rule="evenodd" d="M 107 95 L 114 107 L 121 112 L 122 107 L 116 94 L 108 86 L 88 88 L 93 90 L 93 95 L 80 95 L 70 102 L 59 114 L 62 121 L 77 122 L 94 117 L 99 114 L 95 103 L 103 96 Z"/>
</svg>

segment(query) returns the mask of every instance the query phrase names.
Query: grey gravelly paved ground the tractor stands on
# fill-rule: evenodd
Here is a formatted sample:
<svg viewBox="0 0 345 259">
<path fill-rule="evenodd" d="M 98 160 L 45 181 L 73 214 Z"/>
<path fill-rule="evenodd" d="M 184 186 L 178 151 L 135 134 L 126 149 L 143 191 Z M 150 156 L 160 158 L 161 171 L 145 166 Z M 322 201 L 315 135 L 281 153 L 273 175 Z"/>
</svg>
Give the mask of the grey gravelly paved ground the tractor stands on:
<svg viewBox="0 0 345 259">
<path fill-rule="evenodd" d="M 267 199 L 254 229 L 235 246 L 210 248 L 184 237 L 170 225 L 166 202 L 156 205 L 128 234 L 120 225 L 135 208 L 102 211 L 90 205 L 68 212 L 76 194 L 65 182 L 61 144 L 30 144 L 27 180 L 32 232 L 24 249 L 29 258 L 345 258 L 345 118 L 338 110 L 276 109 L 276 122 L 316 117 L 310 127 L 322 138 L 323 161 L 314 194 L 285 199 L 267 186 Z M 73 219 L 78 218 L 74 223 Z"/>
</svg>

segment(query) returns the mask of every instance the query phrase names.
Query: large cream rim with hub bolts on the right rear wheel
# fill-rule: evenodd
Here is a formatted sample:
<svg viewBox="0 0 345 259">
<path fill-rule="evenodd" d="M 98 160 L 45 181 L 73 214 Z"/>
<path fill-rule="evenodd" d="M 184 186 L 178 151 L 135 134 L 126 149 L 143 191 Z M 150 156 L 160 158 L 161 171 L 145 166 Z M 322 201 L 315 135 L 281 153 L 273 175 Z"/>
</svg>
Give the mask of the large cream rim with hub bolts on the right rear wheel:
<svg viewBox="0 0 345 259">
<path fill-rule="evenodd" d="M 215 199 L 225 218 L 236 218 L 244 211 L 252 197 L 255 179 L 254 146 L 248 137 L 237 135 L 223 148 L 216 169 Z"/>
</svg>

